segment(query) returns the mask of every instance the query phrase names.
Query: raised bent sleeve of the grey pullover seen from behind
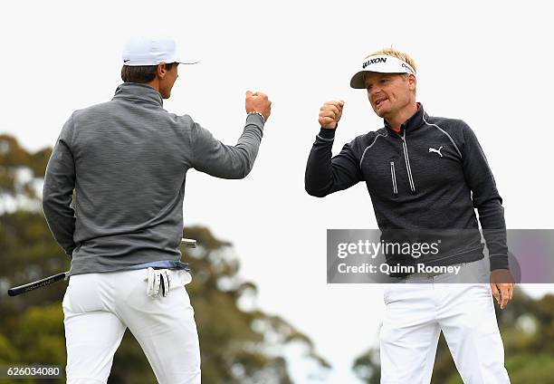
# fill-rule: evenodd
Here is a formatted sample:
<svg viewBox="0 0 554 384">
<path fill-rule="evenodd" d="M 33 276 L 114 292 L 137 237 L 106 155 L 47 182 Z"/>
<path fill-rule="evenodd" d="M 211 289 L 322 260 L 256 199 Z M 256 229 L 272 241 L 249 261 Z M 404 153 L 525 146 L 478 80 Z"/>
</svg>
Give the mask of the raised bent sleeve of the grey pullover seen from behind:
<svg viewBox="0 0 554 384">
<path fill-rule="evenodd" d="M 246 117 L 243 134 L 234 146 L 223 144 L 200 124 L 193 122 L 190 142 L 192 166 L 216 178 L 245 178 L 253 168 L 263 137 L 263 119 L 257 114 Z"/>
</svg>

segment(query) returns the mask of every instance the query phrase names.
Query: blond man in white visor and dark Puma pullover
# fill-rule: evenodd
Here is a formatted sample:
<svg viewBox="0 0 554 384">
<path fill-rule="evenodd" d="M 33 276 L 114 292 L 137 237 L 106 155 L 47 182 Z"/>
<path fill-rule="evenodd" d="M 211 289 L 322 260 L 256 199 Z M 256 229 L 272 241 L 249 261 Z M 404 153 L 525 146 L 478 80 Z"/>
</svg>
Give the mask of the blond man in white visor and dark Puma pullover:
<svg viewBox="0 0 554 384">
<path fill-rule="evenodd" d="M 509 383 L 492 300 L 503 309 L 513 292 L 502 200 L 473 130 L 463 120 L 429 116 L 416 102 L 416 83 L 416 63 L 406 53 L 385 49 L 360 62 L 350 86 L 368 91 L 384 127 L 333 157 L 344 101 L 326 102 L 305 187 L 325 197 L 364 181 L 382 236 L 460 234 L 417 260 L 386 254 L 387 264 L 460 266 L 461 273 L 394 275 L 397 283 L 384 293 L 382 383 L 429 383 L 441 331 L 464 383 Z"/>
</svg>

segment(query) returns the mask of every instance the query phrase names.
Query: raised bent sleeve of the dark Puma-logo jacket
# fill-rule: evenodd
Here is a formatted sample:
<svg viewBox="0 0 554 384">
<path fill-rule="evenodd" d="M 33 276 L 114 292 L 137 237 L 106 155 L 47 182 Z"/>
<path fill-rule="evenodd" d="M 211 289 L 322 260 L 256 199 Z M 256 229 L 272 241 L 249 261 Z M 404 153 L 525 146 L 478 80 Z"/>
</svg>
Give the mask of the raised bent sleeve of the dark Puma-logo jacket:
<svg viewBox="0 0 554 384">
<path fill-rule="evenodd" d="M 332 157 L 334 139 L 335 130 L 322 128 L 311 147 L 304 178 L 306 192 L 311 196 L 325 197 L 352 187 L 362 179 L 355 150 L 356 139 Z"/>
</svg>

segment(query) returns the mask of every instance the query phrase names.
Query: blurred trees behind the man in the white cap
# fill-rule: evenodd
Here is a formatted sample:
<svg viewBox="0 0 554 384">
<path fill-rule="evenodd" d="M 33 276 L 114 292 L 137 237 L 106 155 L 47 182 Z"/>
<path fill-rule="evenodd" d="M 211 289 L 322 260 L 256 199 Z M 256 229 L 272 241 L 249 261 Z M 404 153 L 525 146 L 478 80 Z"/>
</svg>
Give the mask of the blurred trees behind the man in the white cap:
<svg viewBox="0 0 554 384">
<path fill-rule="evenodd" d="M 53 283 L 16 297 L 6 295 L 9 286 L 70 266 L 53 240 L 40 205 L 18 203 L 22 196 L 40 202 L 36 182 L 43 178 L 50 154 L 51 149 L 29 153 L 13 137 L 0 136 L 0 365 L 65 365 L 62 297 L 66 284 Z M 26 172 L 24 178 L 22 172 Z M 202 226 L 185 228 L 184 235 L 197 241 L 195 249 L 183 249 L 183 259 L 194 275 L 186 289 L 196 313 L 204 383 L 291 383 L 283 352 L 287 345 L 299 342 L 320 370 L 329 369 L 306 335 L 279 316 L 252 309 L 256 286 L 238 277 L 239 262 L 231 243 L 216 239 Z M 139 343 L 126 332 L 109 383 L 155 381 Z"/>
</svg>

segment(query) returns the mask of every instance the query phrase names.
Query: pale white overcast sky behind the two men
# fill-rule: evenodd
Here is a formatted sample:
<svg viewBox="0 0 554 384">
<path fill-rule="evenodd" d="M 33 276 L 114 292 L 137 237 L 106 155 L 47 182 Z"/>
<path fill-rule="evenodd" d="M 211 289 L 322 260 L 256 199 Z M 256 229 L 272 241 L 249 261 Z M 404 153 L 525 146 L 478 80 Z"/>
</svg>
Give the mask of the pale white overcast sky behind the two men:
<svg viewBox="0 0 554 384">
<path fill-rule="evenodd" d="M 333 364 L 327 382 L 355 382 L 350 365 L 377 345 L 384 305 L 379 286 L 326 284 L 326 229 L 377 223 L 363 184 L 318 199 L 304 192 L 303 175 L 323 101 L 346 101 L 335 152 L 382 126 L 366 92 L 349 88 L 353 68 L 367 53 L 391 44 L 411 53 L 425 110 L 473 128 L 510 228 L 554 227 L 548 2 L 0 6 L 0 133 L 14 134 L 27 149 L 53 146 L 73 110 L 110 100 L 120 82 L 121 45 L 130 34 L 172 34 L 187 57 L 201 61 L 179 68 L 164 106 L 191 115 L 227 144 L 244 127 L 244 91 L 269 95 L 272 116 L 252 173 L 229 181 L 190 171 L 185 225 L 208 226 L 234 243 L 241 275 L 260 289 L 258 304 L 306 332 Z"/>
</svg>

